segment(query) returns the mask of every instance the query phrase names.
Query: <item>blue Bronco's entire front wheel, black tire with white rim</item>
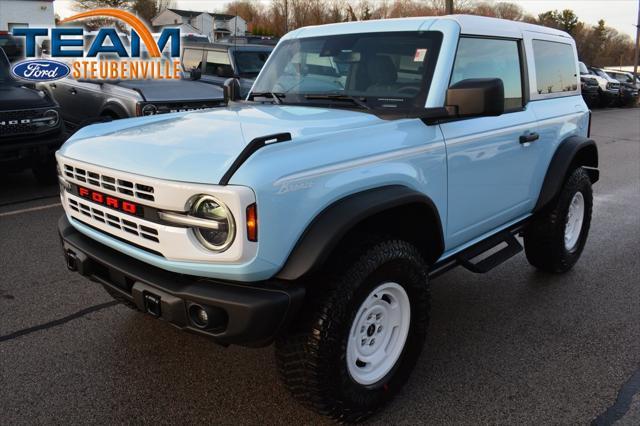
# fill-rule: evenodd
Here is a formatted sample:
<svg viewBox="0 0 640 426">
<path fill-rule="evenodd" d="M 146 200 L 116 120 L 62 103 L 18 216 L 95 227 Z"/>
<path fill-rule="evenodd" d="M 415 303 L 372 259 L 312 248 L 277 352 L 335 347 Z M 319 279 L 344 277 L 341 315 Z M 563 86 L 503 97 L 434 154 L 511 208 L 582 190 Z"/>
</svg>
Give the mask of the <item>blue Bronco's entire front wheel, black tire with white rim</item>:
<svg viewBox="0 0 640 426">
<path fill-rule="evenodd" d="M 361 421 L 407 381 L 427 334 L 427 268 L 418 250 L 387 240 L 360 253 L 295 330 L 276 341 L 293 396 L 334 420 Z"/>
</svg>

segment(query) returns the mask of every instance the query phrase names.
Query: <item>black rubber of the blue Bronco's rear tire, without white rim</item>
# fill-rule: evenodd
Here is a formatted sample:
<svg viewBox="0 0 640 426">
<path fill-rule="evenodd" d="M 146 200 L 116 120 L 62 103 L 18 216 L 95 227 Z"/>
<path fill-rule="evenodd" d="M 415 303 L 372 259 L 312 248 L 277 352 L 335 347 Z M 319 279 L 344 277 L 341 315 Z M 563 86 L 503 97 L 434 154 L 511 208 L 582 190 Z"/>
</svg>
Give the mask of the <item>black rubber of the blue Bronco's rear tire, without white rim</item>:
<svg viewBox="0 0 640 426">
<path fill-rule="evenodd" d="M 578 242 L 574 249 L 567 250 L 564 242 L 567 213 L 577 192 L 584 197 L 584 218 Z M 525 229 L 524 248 L 529 263 L 551 273 L 563 273 L 571 269 L 580 258 L 587 241 L 592 208 L 591 180 L 587 172 L 578 167 L 567 177 L 560 194 Z"/>
</svg>

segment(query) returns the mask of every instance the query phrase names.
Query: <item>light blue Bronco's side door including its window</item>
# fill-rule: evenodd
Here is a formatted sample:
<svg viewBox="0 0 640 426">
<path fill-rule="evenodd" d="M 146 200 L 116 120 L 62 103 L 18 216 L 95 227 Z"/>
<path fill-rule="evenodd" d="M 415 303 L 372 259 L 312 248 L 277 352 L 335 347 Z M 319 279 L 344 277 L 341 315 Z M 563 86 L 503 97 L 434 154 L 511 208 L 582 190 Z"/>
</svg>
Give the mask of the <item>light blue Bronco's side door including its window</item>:
<svg viewBox="0 0 640 426">
<path fill-rule="evenodd" d="M 521 40 L 461 37 L 450 85 L 470 78 L 500 78 L 505 112 L 498 117 L 441 125 L 447 147 L 447 249 L 515 221 L 531 211 L 539 147 L 527 108 Z"/>
</svg>

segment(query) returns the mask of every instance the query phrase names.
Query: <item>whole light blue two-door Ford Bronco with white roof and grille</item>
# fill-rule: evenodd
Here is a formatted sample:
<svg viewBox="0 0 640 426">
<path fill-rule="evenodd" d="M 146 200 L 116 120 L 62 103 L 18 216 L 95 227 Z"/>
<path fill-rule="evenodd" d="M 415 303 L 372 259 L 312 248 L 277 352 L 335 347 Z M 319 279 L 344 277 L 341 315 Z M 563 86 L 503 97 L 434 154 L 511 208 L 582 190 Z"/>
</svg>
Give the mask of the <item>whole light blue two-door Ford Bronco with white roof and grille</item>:
<svg viewBox="0 0 640 426">
<path fill-rule="evenodd" d="M 301 28 L 247 99 L 97 124 L 57 153 L 67 266 L 366 418 L 407 381 L 429 279 L 522 250 L 562 273 L 598 154 L 574 41 L 470 16 Z M 518 237 L 522 237 L 519 239 Z"/>
</svg>

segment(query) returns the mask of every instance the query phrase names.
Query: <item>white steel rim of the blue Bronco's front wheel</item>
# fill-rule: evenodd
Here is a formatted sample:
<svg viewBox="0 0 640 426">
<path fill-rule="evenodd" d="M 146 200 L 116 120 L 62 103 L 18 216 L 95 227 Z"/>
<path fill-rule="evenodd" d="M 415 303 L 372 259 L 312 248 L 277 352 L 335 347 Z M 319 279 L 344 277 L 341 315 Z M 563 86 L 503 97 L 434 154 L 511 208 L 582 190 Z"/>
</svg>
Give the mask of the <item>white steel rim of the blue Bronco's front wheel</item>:
<svg viewBox="0 0 640 426">
<path fill-rule="evenodd" d="M 347 342 L 347 369 L 353 380 L 368 386 L 391 371 L 402 354 L 410 322 L 411 304 L 401 285 L 387 282 L 369 293 Z"/>
</svg>

